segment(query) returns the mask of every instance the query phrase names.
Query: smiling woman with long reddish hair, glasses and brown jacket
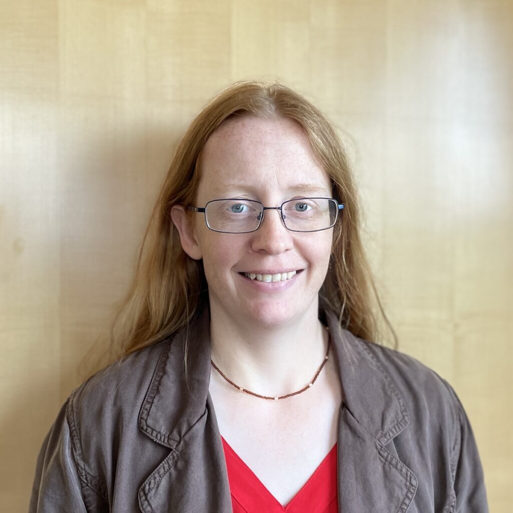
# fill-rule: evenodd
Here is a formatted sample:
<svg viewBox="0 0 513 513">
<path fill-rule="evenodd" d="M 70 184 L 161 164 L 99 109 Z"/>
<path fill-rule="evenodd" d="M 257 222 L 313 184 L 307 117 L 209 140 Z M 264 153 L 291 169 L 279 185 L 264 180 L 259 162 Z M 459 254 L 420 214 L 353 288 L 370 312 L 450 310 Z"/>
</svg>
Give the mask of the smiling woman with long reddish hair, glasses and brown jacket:
<svg viewBox="0 0 513 513">
<path fill-rule="evenodd" d="M 214 98 L 154 209 L 125 358 L 63 406 L 30 510 L 487 511 L 453 389 L 367 342 L 358 224 L 314 106 L 280 84 Z"/>
</svg>

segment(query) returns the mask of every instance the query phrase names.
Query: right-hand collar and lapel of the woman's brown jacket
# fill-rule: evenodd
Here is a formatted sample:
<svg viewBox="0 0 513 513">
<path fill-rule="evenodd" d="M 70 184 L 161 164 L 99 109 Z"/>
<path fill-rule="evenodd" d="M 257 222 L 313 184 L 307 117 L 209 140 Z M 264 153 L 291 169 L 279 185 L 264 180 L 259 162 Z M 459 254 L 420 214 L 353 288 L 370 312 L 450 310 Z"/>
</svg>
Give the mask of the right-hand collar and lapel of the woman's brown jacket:
<svg viewBox="0 0 513 513">
<path fill-rule="evenodd" d="M 365 342 L 326 314 L 342 384 L 338 426 L 340 511 L 405 513 L 417 477 L 387 444 L 408 425 L 403 397 Z"/>
</svg>

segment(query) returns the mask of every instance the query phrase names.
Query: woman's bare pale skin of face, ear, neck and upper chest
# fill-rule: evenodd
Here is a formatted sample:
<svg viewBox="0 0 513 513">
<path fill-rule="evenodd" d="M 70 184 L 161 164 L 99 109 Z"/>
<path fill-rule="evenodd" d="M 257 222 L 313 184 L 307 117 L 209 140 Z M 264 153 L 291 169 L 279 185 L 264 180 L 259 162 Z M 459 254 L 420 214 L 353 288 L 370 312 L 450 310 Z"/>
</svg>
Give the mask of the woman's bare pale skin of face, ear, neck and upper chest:
<svg viewBox="0 0 513 513">
<path fill-rule="evenodd" d="M 328 175 L 306 135 L 287 119 L 230 120 L 207 141 L 201 171 L 198 207 L 222 198 L 277 207 L 293 198 L 332 197 Z M 207 228 L 203 214 L 192 215 L 190 223 L 183 206 L 171 209 L 184 251 L 203 260 L 212 360 L 234 383 L 265 396 L 304 387 L 328 346 L 318 319 L 318 294 L 333 230 L 291 232 L 278 210 L 267 210 L 257 231 L 217 233 Z M 301 272 L 284 283 L 260 283 L 240 274 L 264 270 Z M 240 392 L 213 368 L 209 393 L 220 432 L 284 504 L 337 440 L 342 391 L 332 358 L 314 386 L 287 400 L 265 401 Z M 307 451 L 305 440 L 312 441 Z M 278 457 L 269 464 L 268 455 Z"/>
</svg>

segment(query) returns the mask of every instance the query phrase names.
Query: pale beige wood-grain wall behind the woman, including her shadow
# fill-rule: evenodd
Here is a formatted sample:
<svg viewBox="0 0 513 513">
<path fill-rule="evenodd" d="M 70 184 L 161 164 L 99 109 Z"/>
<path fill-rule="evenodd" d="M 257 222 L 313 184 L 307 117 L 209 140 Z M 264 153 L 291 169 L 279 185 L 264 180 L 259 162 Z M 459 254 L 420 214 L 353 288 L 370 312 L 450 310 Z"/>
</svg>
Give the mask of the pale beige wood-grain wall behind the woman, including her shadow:
<svg viewBox="0 0 513 513">
<path fill-rule="evenodd" d="M 0 510 L 133 272 L 177 138 L 233 81 L 336 124 L 400 349 L 455 387 L 513 503 L 513 3 L 0 0 Z"/>
</svg>

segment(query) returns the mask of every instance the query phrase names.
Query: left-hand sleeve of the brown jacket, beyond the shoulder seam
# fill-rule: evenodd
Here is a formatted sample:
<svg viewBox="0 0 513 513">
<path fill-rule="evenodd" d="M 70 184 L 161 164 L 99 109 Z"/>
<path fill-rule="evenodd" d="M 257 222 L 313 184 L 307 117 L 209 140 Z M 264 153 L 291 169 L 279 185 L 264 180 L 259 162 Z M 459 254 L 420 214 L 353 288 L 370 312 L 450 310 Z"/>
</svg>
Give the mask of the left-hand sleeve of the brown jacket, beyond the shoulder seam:
<svg viewBox="0 0 513 513">
<path fill-rule="evenodd" d="M 69 402 L 61 408 L 37 458 L 29 513 L 88 513 L 66 416 Z"/>
</svg>

